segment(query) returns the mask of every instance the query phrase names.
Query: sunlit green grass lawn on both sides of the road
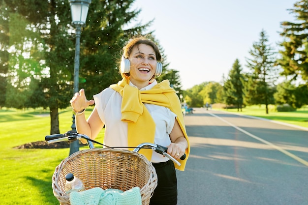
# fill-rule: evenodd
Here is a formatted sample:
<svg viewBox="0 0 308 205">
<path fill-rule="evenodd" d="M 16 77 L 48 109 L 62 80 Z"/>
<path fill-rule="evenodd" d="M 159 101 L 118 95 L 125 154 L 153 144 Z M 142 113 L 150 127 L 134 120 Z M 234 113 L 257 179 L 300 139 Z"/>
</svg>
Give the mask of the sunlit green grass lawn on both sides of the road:
<svg viewBox="0 0 308 205">
<path fill-rule="evenodd" d="M 265 117 L 299 126 L 308 127 L 308 108 L 290 113 L 270 112 L 264 107 L 248 107 L 243 115 Z M 87 111 L 89 116 L 91 111 Z M 60 111 L 60 132 L 70 130 L 70 109 Z M 50 133 L 49 112 L 44 110 L 0 110 L 0 204 L 1 205 L 56 205 L 51 187 L 55 167 L 68 156 L 69 148 L 62 149 L 17 149 L 30 142 L 42 141 Z M 103 131 L 97 141 L 102 142 Z M 83 149 L 82 147 L 81 149 Z"/>
</svg>

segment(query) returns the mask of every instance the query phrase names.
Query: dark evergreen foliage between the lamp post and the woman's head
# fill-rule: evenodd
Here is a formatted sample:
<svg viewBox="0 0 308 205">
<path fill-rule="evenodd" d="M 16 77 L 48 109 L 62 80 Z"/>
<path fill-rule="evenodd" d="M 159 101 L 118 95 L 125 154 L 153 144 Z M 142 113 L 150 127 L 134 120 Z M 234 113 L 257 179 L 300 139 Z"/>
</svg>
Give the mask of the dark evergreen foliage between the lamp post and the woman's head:
<svg viewBox="0 0 308 205">
<path fill-rule="evenodd" d="M 128 12 L 132 3 L 133 0 L 92 0 L 90 4 L 80 53 L 80 77 L 85 79 L 80 87 L 90 97 L 121 79 L 118 66 L 123 45 L 131 35 L 141 33 L 148 26 L 122 29 L 140 12 Z"/>
</svg>

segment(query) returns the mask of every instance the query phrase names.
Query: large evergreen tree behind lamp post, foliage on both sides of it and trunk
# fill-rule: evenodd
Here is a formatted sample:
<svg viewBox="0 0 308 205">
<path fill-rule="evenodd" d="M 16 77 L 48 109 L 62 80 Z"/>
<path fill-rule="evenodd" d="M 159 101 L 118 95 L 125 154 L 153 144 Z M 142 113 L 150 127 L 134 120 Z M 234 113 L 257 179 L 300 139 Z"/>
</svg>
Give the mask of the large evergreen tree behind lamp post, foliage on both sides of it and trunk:
<svg viewBox="0 0 308 205">
<path fill-rule="evenodd" d="M 75 36 L 69 3 L 67 0 L 2 2 L 1 24 L 8 25 L 8 30 L 6 27 L 2 29 L 2 25 L 0 28 L 11 34 L 9 42 L 15 48 L 9 59 L 11 81 L 7 88 L 13 90 L 10 93 L 23 96 L 28 94 L 25 97 L 20 96 L 20 102 L 24 101 L 18 105 L 20 107 L 31 104 L 26 100 L 33 99 L 29 95 L 39 93 L 40 88 L 40 93 L 50 108 L 50 132 L 59 133 L 58 109 L 66 108 L 73 95 Z M 87 23 L 81 34 L 80 49 L 80 78 L 81 82 L 87 82 L 81 86 L 88 90 L 88 96 L 119 79 L 120 75 L 115 70 L 118 70 L 120 48 L 128 37 L 142 33 L 147 27 L 142 25 L 123 30 L 123 26 L 132 22 L 140 12 L 130 9 L 132 2 L 133 0 L 92 0 L 90 4 Z M 1 32 L 0 34 L 3 35 Z M 25 50 L 25 45 L 31 47 Z M 2 46 L 1 49 L 7 52 L 9 46 Z M 25 53 L 29 56 L 25 56 Z M 0 58 L 5 60 L 2 56 Z M 36 79 L 33 83 L 36 82 L 39 86 L 32 84 L 31 88 L 36 91 L 24 92 L 30 86 L 31 77 Z M 19 84 L 11 86 L 16 80 Z M 46 106 L 45 102 L 42 101 L 40 106 Z"/>
</svg>

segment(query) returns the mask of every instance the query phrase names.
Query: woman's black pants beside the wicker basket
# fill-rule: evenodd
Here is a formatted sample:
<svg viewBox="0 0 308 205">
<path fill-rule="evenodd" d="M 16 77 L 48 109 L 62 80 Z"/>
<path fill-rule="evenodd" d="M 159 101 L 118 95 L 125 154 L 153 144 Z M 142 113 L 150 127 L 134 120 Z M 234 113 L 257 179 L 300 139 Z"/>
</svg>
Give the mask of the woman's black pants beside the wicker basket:
<svg viewBox="0 0 308 205">
<path fill-rule="evenodd" d="M 157 174 L 157 187 L 150 205 L 176 205 L 178 203 L 177 176 L 171 160 L 153 163 Z"/>
</svg>

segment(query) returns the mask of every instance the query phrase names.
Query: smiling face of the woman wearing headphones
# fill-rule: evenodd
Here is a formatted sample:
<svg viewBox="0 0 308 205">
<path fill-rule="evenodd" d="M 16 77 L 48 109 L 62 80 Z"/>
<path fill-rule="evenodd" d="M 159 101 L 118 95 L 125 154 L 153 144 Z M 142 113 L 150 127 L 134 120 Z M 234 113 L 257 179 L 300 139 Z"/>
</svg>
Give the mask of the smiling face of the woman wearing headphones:
<svg viewBox="0 0 308 205">
<path fill-rule="evenodd" d="M 152 46 L 139 44 L 133 47 L 130 56 L 130 81 L 139 89 L 149 85 L 155 74 L 156 55 Z"/>
</svg>

